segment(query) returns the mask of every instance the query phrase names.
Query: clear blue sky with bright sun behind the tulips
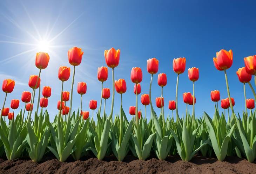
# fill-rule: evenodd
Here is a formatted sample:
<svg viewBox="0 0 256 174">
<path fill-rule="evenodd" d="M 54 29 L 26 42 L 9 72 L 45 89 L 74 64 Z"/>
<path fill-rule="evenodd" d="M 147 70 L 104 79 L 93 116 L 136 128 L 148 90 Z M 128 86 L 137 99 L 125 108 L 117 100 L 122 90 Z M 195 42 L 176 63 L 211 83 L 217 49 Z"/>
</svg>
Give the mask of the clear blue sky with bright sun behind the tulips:
<svg viewBox="0 0 256 174">
<path fill-rule="evenodd" d="M 211 90 L 220 90 L 221 98 L 227 97 L 224 72 L 213 65 L 213 57 L 221 49 L 233 50 L 233 66 L 228 69 L 231 97 L 235 98 L 235 112 L 244 109 L 243 84 L 238 81 L 236 71 L 244 66 L 243 58 L 256 54 L 255 18 L 252 7 L 255 1 L 1 1 L 0 2 L 0 80 L 12 78 L 15 89 L 8 94 L 6 106 L 11 99 L 20 99 L 22 91 L 32 91 L 27 83 L 29 76 L 38 74 L 34 65 L 36 52 L 41 40 L 50 41 L 47 52 L 50 61 L 42 70 L 41 85 L 52 87 L 48 111 L 51 119 L 58 112 L 61 81 L 58 79 L 59 66 L 70 66 L 67 51 L 73 46 L 84 51 L 82 63 L 76 68 L 74 83 L 74 109 L 80 105 L 80 95 L 76 85 L 87 83 L 87 93 L 83 96 L 83 110 L 89 110 L 89 100 L 100 101 L 101 83 L 97 80 L 97 68 L 106 66 L 104 51 L 111 47 L 121 49 L 120 63 L 115 68 L 115 79 L 124 78 L 127 92 L 123 94 L 123 108 L 135 105 L 133 83 L 130 81 L 132 67 L 141 67 L 142 93 L 149 92 L 150 74 L 147 73 L 147 59 L 159 60 L 159 73 L 167 74 L 164 87 L 166 115 L 168 101 L 175 100 L 176 77 L 172 68 L 174 58 L 186 57 L 186 71 L 180 76 L 178 88 L 178 108 L 185 113 L 183 92 L 192 92 L 187 69 L 198 67 L 199 80 L 195 83 L 195 113 L 203 111 L 210 115 L 214 103 L 210 99 Z M 70 91 L 71 77 L 64 83 L 64 90 Z M 255 88 L 254 81 L 251 81 Z M 104 87 L 112 90 L 112 75 Z M 246 86 L 247 98 L 253 98 Z M 152 85 L 152 99 L 161 95 L 157 85 L 157 75 Z M 0 93 L 4 100 L 4 92 Z M 37 96 L 36 96 L 37 98 Z M 139 96 L 140 99 L 140 96 Z M 37 100 L 35 100 L 36 103 Z M 2 104 L 2 101 L 0 101 Z M 107 100 L 107 113 L 111 99 Z M 19 109 L 23 108 L 21 102 Z M 220 104 L 219 104 L 220 106 Z M 120 108 L 120 94 L 115 95 L 114 112 Z M 139 108 L 144 107 L 139 102 Z M 189 107 L 191 112 L 191 107 Z M 155 107 L 157 113 L 160 109 Z M 17 112 L 17 111 L 16 111 Z M 148 112 L 149 113 L 149 107 Z M 90 115 L 92 112 L 90 111 Z M 149 116 L 149 114 L 148 114 Z"/>
</svg>

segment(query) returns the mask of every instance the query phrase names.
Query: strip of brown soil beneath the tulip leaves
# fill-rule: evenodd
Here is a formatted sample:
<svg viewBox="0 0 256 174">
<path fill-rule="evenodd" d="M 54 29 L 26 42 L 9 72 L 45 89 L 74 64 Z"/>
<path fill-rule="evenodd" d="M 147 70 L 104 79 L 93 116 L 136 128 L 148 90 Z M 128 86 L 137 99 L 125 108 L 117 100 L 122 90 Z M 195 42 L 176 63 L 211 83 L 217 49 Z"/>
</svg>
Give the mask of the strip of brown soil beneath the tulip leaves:
<svg viewBox="0 0 256 174">
<path fill-rule="evenodd" d="M 0 173 L 256 173 L 256 164 L 246 159 L 227 157 L 225 161 L 215 158 L 195 156 L 190 162 L 184 162 L 178 156 L 166 160 L 149 158 L 146 161 L 127 156 L 123 162 L 116 161 L 114 156 L 100 161 L 91 156 L 74 161 L 60 162 L 53 157 L 46 157 L 36 163 L 29 159 L 8 161 L 0 159 Z"/>
</svg>

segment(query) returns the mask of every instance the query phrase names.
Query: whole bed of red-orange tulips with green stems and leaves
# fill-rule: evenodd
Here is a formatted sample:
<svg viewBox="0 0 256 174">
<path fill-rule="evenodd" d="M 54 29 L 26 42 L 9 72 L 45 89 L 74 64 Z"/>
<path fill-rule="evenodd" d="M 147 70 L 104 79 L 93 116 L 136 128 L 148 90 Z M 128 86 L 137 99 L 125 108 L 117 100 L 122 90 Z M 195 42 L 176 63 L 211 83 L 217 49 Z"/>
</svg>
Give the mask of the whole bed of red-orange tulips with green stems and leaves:
<svg viewBox="0 0 256 174">
<path fill-rule="evenodd" d="M 103 54 L 102 54 L 103 55 Z M 213 54 L 214 55 L 214 54 Z M 2 91 L 5 98 L 0 116 L 0 156 L 7 160 L 28 157 L 33 162 L 40 162 L 50 153 L 59 161 L 68 158 L 79 160 L 88 154 L 103 160 L 107 156 L 114 156 L 123 161 L 127 154 L 140 160 L 147 160 L 155 156 L 160 160 L 167 157 L 179 156 L 183 161 L 190 161 L 195 155 L 216 157 L 223 161 L 227 156 L 245 158 L 254 162 L 256 158 L 256 117 L 255 117 L 255 85 L 256 85 L 256 55 L 244 58 L 244 67 L 236 72 L 238 80 L 244 85 L 244 111 L 235 112 L 235 100 L 230 96 L 228 76 L 226 71 L 232 66 L 232 50 L 220 50 L 213 58 L 216 71 L 223 71 L 227 87 L 227 98 L 221 99 L 218 90 L 211 91 L 209 96 L 215 104 L 214 115 L 206 112 L 201 117 L 195 116 L 196 96 L 194 84 L 199 78 L 199 69 L 186 67 L 186 58 L 173 59 L 173 71 L 176 73 L 176 98 L 169 101 L 163 96 L 163 88 L 167 84 L 167 77 L 159 73 L 159 61 L 156 58 L 147 60 L 147 72 L 140 67 L 131 69 L 130 80 L 134 83 L 134 101 L 130 101 L 129 113 L 125 113 L 122 106 L 122 94 L 127 86 L 124 79 L 115 79 L 115 68 L 119 65 L 120 50 L 110 48 L 104 52 L 106 65 L 98 68 L 97 78 L 101 82 L 101 100 L 90 100 L 92 111 L 83 111 L 83 95 L 87 92 L 87 84 L 74 84 L 75 70 L 80 68 L 83 52 L 81 48 L 73 47 L 68 50 L 70 67 L 61 66 L 58 71 L 62 88 L 59 95 L 58 112 L 54 121 L 50 121 L 47 112 L 48 98 L 51 96 L 50 86 L 40 86 L 40 75 L 50 63 L 47 53 L 39 52 L 35 56 L 35 66 L 38 75 L 29 77 L 27 90 L 21 96 L 15 96 L 11 105 L 6 103 L 9 93 L 15 90 L 15 81 L 5 79 Z M 145 60 L 146 62 L 146 60 Z M 241 65 L 243 66 L 243 65 Z M 187 70 L 187 71 L 186 71 Z M 159 74 L 158 74 L 159 73 Z M 193 93 L 183 93 L 183 101 L 177 101 L 180 74 L 188 73 L 193 85 Z M 70 77 L 70 74 L 72 77 Z M 103 88 L 104 82 L 112 74 L 113 88 Z M 149 91 L 141 94 L 143 76 L 151 76 Z M 251 84 L 254 76 L 255 85 Z M 72 78 L 70 91 L 63 91 L 63 84 Z M 95 77 L 96 78 L 96 77 Z M 151 99 L 151 85 L 153 78 L 161 86 L 161 97 Z M 184 78 L 184 77 L 183 77 Z M 187 77 L 186 77 L 187 78 Z M 245 85 L 249 85 L 254 99 L 246 98 Z M 40 91 L 42 88 L 42 91 Z M 74 101 L 73 92 L 81 95 L 80 101 Z M 35 98 L 39 93 L 41 98 Z M 110 98 L 111 97 L 111 98 Z M 115 98 L 121 97 L 121 103 Z M 21 101 L 20 101 L 21 98 Z M 110 113 L 106 113 L 106 101 L 111 102 Z M 219 102 L 220 101 L 220 102 Z M 138 110 L 138 102 L 145 106 L 145 110 Z M 192 105 L 193 111 L 179 111 L 179 103 Z M 164 104 L 168 104 L 171 114 L 164 111 Z M 19 110 L 19 105 L 22 109 Z M 79 109 L 72 108 L 79 105 Z M 114 113 L 114 105 L 120 106 L 120 111 Z M 157 115 L 153 106 L 161 109 Z M 24 106 L 24 107 L 23 107 Z M 150 107 L 150 113 L 146 113 Z M 221 109 L 222 108 L 222 109 Z M 17 109 L 17 110 L 16 110 Z M 73 109 L 73 110 L 72 110 Z M 224 110 L 223 110 L 224 109 Z M 224 111 L 224 112 L 223 112 Z M 90 112 L 90 114 L 89 114 Z M 180 113 L 186 113 L 181 115 Z M 128 115 L 132 120 L 128 121 Z M 34 119 L 31 119 L 33 116 Z M 175 119 L 174 119 L 175 118 Z"/>
</svg>

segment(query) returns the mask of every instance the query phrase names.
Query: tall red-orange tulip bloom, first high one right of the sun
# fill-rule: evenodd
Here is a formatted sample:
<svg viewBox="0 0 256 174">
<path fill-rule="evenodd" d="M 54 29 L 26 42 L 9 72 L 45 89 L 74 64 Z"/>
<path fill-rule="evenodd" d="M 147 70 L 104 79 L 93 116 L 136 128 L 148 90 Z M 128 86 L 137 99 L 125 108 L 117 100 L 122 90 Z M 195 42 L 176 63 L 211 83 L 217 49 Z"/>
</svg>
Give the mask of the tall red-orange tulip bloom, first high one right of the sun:
<svg viewBox="0 0 256 174">
<path fill-rule="evenodd" d="M 73 47 L 68 50 L 68 62 L 73 66 L 80 65 L 82 61 L 82 48 Z"/>
</svg>

